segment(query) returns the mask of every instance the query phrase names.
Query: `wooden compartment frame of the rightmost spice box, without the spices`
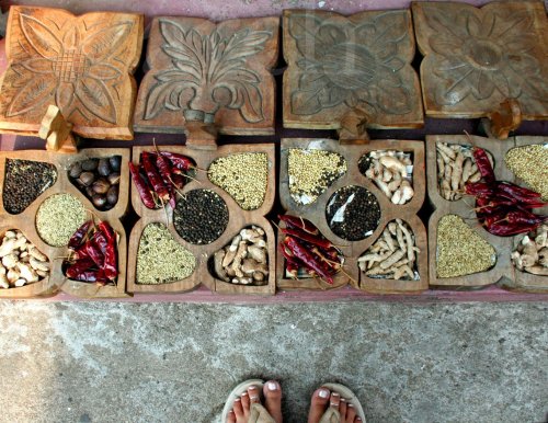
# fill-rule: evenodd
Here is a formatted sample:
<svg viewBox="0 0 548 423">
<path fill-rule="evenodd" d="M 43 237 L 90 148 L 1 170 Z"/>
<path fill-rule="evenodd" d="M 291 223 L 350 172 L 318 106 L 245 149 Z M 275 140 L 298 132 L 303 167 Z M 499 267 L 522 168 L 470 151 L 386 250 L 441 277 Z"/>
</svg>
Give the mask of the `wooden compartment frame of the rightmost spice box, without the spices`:
<svg viewBox="0 0 548 423">
<path fill-rule="evenodd" d="M 499 284 L 502 287 L 523 290 L 523 291 L 543 291 L 548 288 L 548 278 L 546 276 L 536 276 L 518 272 L 510 260 L 510 254 L 518 239 L 523 235 L 516 237 L 495 237 L 489 233 L 477 221 L 468 225 L 481 238 L 489 242 L 496 251 L 495 265 L 486 272 L 475 273 L 459 277 L 437 277 L 436 271 L 436 254 L 437 254 L 437 225 L 443 216 L 448 214 L 457 215 L 461 218 L 470 219 L 476 217 L 473 207 L 473 198 L 465 196 L 458 201 L 449 202 L 439 195 L 437 182 L 437 163 L 436 163 L 436 142 L 458 144 L 463 146 L 477 146 L 489 151 L 494 158 L 494 173 L 496 180 L 510 181 L 522 184 L 515 178 L 512 171 L 504 163 L 504 157 L 507 151 L 516 146 L 514 137 L 505 141 L 492 138 L 483 138 L 471 136 L 471 142 L 465 135 L 431 135 L 426 136 L 426 169 L 427 169 L 427 186 L 429 198 L 435 211 L 429 220 L 429 267 L 430 267 L 430 284 L 432 286 L 443 286 L 444 288 L 464 288 L 464 287 L 481 287 L 492 284 Z M 544 137 L 520 137 L 520 145 L 547 142 Z M 523 184 L 522 184 L 523 185 Z M 537 209 L 536 213 L 546 214 L 548 207 Z"/>
</svg>

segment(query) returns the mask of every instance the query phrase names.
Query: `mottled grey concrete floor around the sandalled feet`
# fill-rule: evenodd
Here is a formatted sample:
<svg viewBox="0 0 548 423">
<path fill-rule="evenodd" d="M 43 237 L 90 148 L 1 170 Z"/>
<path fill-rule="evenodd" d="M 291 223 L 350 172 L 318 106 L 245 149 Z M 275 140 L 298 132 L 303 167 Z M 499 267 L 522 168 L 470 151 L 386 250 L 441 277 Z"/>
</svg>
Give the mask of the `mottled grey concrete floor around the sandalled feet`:
<svg viewBox="0 0 548 423">
<path fill-rule="evenodd" d="M 251 376 L 302 422 L 322 381 L 369 422 L 541 422 L 548 304 L 0 302 L 1 422 L 217 422 Z"/>
</svg>

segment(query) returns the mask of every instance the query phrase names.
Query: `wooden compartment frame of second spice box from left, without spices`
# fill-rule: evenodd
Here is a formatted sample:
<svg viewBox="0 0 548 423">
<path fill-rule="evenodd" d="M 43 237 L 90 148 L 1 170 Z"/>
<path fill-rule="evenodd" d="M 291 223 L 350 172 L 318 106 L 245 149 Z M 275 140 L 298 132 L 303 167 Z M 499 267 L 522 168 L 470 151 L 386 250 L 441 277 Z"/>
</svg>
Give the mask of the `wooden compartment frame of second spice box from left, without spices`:
<svg viewBox="0 0 548 423">
<path fill-rule="evenodd" d="M 150 151 L 152 147 L 134 147 L 133 149 L 133 161 L 134 163 L 139 162 L 140 153 L 142 151 Z M 276 272 L 275 272 L 275 237 L 271 224 L 264 217 L 274 204 L 274 197 L 276 192 L 275 184 L 275 149 L 274 145 L 270 144 L 255 144 L 255 145 L 230 145 L 219 147 L 217 150 L 195 150 L 187 147 L 181 146 L 162 146 L 162 151 L 171 151 L 184 155 L 192 158 L 199 169 L 207 170 L 209 164 L 220 158 L 232 153 L 241 152 L 262 152 L 267 156 L 269 159 L 269 182 L 266 194 L 262 206 L 255 210 L 243 210 L 236 203 L 236 201 L 222 188 L 213 184 L 207 178 L 207 173 L 203 171 L 196 172 L 195 181 L 187 183 L 183 190 L 182 194 L 193 191 L 193 190 L 210 190 L 217 193 L 226 203 L 229 211 L 228 226 L 222 232 L 222 235 L 209 244 L 198 245 L 185 241 L 176 232 L 173 226 L 173 211 L 170 207 L 164 211 L 163 209 L 151 210 L 145 207 L 139 194 L 135 190 L 135 185 L 132 183 L 132 205 L 136 210 L 137 215 L 140 216 L 140 220 L 134 226 L 132 235 L 129 238 L 129 256 L 128 256 L 128 290 L 130 293 L 153 293 L 153 294 L 164 294 L 164 293 L 182 293 L 196 288 L 201 284 L 208 287 L 212 291 L 220 294 L 252 294 L 252 295 L 274 295 L 276 289 Z M 142 230 L 145 227 L 152 222 L 162 224 L 165 226 L 167 219 L 169 219 L 168 230 L 181 245 L 186 250 L 192 252 L 196 258 L 196 268 L 194 273 L 183 281 L 178 281 L 170 284 L 159 284 L 159 285 L 144 285 L 137 284 L 136 282 L 136 268 L 137 268 L 137 251 L 139 249 L 139 242 L 141 238 Z M 256 225 L 264 229 L 266 232 L 266 243 L 269 253 L 269 279 L 267 284 L 263 286 L 243 286 L 233 285 L 225 283 L 216 278 L 208 268 L 208 262 L 213 254 L 229 244 L 232 238 L 244 227 Z"/>
</svg>

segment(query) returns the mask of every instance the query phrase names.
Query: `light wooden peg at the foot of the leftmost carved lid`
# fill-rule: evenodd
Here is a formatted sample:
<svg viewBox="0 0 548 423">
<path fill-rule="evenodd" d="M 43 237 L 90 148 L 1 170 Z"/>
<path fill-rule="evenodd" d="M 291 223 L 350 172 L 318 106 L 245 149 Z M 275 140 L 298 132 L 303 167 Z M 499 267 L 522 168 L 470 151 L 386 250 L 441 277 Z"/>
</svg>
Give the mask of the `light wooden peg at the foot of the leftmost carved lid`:
<svg viewBox="0 0 548 423">
<path fill-rule="evenodd" d="M 59 107 L 50 104 L 42 119 L 38 137 L 46 140 L 48 151 L 73 153 L 78 149 L 71 129 L 72 124 L 65 121 Z"/>
</svg>

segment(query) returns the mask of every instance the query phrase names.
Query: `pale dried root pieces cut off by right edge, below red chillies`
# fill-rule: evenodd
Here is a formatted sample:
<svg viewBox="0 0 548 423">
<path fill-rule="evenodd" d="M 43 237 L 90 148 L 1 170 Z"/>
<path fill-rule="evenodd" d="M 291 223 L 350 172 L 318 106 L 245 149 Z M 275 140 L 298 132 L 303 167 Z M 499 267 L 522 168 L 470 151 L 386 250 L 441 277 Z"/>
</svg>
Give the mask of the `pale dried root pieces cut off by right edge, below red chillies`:
<svg viewBox="0 0 548 423">
<path fill-rule="evenodd" d="M 518 271 L 548 276 L 548 225 L 523 237 L 512 252 L 512 263 Z"/>
</svg>

